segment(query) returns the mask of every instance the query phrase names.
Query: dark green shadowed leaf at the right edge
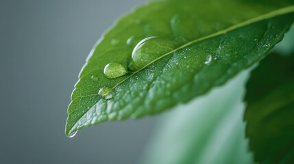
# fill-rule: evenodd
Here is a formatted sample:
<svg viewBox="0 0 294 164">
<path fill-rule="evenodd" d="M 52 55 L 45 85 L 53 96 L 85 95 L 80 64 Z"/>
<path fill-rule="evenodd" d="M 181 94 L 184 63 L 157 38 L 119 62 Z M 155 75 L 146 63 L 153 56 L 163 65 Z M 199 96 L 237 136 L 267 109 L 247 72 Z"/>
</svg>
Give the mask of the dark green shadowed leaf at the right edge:
<svg viewBox="0 0 294 164">
<path fill-rule="evenodd" d="M 258 163 L 294 163 L 294 54 L 271 54 L 247 83 L 246 136 Z"/>
</svg>

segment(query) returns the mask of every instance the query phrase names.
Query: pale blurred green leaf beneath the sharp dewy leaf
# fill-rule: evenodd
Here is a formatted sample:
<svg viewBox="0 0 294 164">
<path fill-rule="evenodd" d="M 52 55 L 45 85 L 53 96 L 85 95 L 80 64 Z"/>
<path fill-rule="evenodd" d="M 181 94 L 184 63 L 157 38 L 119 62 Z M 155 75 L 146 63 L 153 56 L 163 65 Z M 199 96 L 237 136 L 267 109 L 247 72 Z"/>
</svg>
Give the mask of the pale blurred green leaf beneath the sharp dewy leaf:
<svg viewBox="0 0 294 164">
<path fill-rule="evenodd" d="M 241 72 L 225 85 L 166 113 L 143 163 L 253 163 L 242 119 L 248 77 L 249 70 Z"/>
</svg>

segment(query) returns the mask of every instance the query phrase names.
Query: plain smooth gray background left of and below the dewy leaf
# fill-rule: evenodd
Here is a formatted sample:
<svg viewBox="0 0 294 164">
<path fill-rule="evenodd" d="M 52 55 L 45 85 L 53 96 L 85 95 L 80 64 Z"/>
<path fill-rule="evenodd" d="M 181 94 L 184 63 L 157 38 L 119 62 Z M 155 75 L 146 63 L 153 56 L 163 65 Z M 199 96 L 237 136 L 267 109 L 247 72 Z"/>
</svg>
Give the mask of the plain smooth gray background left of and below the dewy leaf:
<svg viewBox="0 0 294 164">
<path fill-rule="evenodd" d="M 0 163 L 138 163 L 154 121 L 64 135 L 86 56 L 116 18 L 143 0 L 0 0 Z"/>
</svg>

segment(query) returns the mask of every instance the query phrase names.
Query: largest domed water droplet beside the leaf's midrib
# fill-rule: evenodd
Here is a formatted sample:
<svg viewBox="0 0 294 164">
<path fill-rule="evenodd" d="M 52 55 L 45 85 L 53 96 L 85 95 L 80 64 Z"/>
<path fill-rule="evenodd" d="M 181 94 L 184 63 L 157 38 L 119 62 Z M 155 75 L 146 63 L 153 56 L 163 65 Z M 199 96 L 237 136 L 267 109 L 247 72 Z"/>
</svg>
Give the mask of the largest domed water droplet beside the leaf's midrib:
<svg viewBox="0 0 294 164">
<path fill-rule="evenodd" d="M 132 68 L 137 70 L 150 64 L 158 57 L 173 51 L 174 44 L 171 40 L 150 36 L 138 42 L 132 53 Z"/>
</svg>

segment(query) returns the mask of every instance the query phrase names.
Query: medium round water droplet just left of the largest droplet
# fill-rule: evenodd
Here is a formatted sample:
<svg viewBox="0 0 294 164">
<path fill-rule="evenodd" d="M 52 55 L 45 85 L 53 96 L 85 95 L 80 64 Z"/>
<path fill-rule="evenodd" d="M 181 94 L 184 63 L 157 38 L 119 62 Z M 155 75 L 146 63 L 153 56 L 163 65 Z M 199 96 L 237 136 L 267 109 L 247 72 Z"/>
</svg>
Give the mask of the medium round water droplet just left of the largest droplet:
<svg viewBox="0 0 294 164">
<path fill-rule="evenodd" d="M 110 63 L 104 67 L 104 75 L 108 79 L 121 77 L 125 75 L 126 73 L 127 73 L 127 70 L 125 70 L 125 67 L 123 67 L 123 65 L 118 63 Z"/>
</svg>

